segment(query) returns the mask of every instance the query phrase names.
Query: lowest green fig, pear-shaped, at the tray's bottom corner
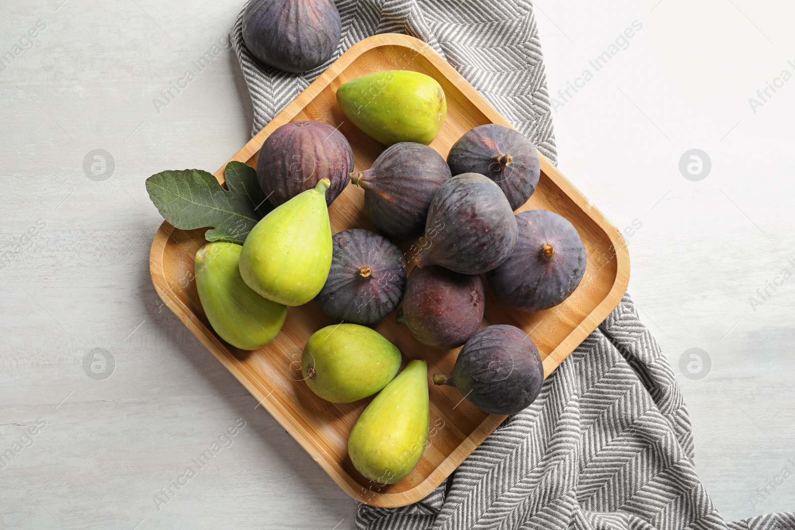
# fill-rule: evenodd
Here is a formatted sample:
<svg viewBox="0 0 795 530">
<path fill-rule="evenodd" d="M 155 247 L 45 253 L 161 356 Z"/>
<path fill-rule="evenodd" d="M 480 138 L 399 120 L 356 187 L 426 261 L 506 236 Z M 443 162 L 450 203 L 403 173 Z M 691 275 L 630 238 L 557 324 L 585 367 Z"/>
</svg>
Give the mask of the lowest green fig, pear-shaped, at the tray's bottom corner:
<svg viewBox="0 0 795 530">
<path fill-rule="evenodd" d="M 394 484 L 411 473 L 428 441 L 428 365 L 411 361 L 367 405 L 348 438 L 348 455 L 359 473 Z"/>
</svg>

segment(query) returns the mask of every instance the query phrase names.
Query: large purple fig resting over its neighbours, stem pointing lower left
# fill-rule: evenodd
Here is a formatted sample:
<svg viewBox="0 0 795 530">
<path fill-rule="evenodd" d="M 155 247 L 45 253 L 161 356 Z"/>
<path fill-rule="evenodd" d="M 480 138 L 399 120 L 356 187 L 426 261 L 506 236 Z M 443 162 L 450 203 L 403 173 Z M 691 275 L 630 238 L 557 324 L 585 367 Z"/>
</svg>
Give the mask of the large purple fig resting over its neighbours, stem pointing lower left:
<svg viewBox="0 0 795 530">
<path fill-rule="evenodd" d="M 480 274 L 506 261 L 516 246 L 517 227 L 505 194 L 477 173 L 445 182 L 433 197 L 425 221 L 429 246 L 419 265 L 442 265 Z"/>
</svg>

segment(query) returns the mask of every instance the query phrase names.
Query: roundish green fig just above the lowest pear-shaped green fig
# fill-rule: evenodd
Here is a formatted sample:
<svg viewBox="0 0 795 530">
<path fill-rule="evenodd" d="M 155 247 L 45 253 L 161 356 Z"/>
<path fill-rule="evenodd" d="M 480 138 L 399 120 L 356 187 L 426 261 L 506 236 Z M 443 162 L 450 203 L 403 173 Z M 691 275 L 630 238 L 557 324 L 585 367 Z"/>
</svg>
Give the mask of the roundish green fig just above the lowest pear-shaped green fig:
<svg viewBox="0 0 795 530">
<path fill-rule="evenodd" d="M 309 337 L 301 372 L 312 392 L 332 403 L 372 396 L 400 369 L 400 350 L 359 324 L 324 327 Z"/>
</svg>

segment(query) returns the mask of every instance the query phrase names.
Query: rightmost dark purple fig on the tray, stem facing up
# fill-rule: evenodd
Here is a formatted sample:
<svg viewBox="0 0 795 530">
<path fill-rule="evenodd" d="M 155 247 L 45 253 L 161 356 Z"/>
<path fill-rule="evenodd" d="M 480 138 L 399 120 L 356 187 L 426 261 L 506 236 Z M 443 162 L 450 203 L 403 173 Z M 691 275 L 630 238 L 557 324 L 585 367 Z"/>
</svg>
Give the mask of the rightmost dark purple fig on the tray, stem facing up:
<svg viewBox="0 0 795 530">
<path fill-rule="evenodd" d="M 514 253 L 486 274 L 498 300 L 520 311 L 543 311 L 566 300 L 585 274 L 583 240 L 571 222 L 549 210 L 516 216 Z"/>
</svg>

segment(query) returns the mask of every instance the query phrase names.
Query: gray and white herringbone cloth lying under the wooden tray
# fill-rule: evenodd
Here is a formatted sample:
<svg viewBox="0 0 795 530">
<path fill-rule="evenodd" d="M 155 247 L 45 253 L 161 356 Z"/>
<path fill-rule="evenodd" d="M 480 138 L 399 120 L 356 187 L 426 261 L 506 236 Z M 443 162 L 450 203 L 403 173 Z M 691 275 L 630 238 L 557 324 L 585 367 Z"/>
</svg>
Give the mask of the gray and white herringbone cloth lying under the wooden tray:
<svg viewBox="0 0 795 530">
<path fill-rule="evenodd" d="M 305 74 L 262 67 L 231 37 L 258 132 L 352 44 L 374 33 L 428 42 L 514 126 L 556 159 L 532 6 L 522 0 L 336 0 L 343 20 L 332 60 Z M 693 469 L 687 410 L 632 300 L 619 307 L 424 501 L 361 505 L 359 529 L 795 528 L 795 515 L 727 524 Z"/>
</svg>

